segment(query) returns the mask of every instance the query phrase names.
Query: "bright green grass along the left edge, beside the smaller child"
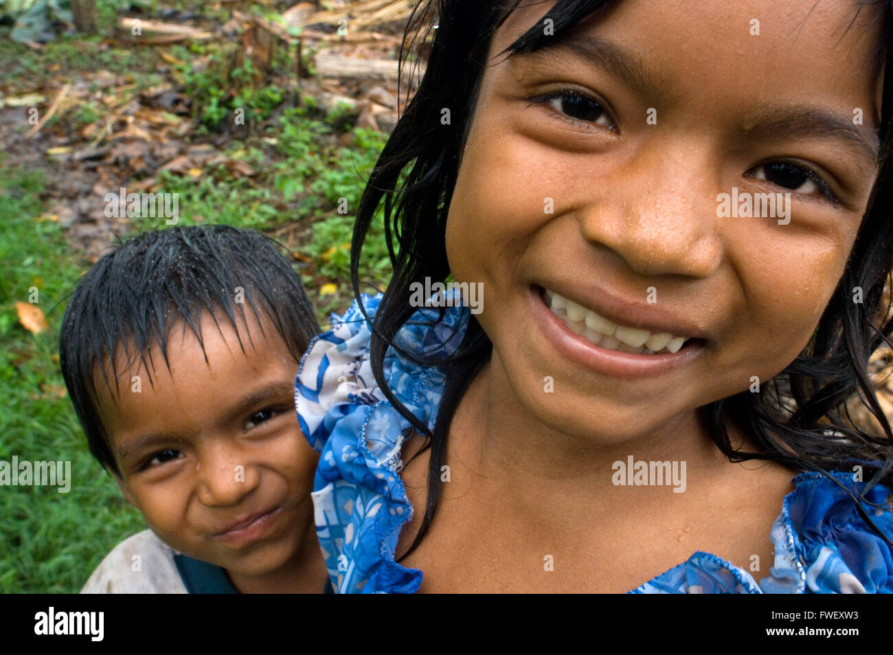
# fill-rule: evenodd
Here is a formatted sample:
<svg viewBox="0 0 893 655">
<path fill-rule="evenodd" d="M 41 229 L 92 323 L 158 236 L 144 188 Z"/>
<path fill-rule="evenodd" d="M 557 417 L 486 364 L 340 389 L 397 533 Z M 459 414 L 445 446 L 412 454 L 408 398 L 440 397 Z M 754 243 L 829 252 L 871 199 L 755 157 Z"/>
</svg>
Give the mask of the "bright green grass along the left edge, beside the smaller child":
<svg viewBox="0 0 893 655">
<path fill-rule="evenodd" d="M 39 171 L 0 164 L 0 460 L 71 461 L 71 491 L 0 487 L 0 592 L 76 592 L 123 535 L 144 528 L 90 456 L 56 354 L 63 299 L 83 270 L 62 228 L 42 218 Z M 38 290 L 49 330 L 31 334 L 13 302 Z"/>
</svg>

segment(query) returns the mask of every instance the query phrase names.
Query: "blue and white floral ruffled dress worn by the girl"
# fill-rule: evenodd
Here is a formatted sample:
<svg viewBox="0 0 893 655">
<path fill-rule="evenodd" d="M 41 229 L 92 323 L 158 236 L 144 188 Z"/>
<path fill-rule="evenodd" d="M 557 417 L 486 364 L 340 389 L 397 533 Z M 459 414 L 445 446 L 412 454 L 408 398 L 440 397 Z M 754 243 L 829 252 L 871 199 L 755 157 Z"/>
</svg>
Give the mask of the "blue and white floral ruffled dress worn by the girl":
<svg viewBox="0 0 893 655">
<path fill-rule="evenodd" d="M 381 296 L 363 296 L 372 317 Z M 444 319 L 421 308 L 397 333 L 407 352 L 448 357 L 459 347 L 469 316 L 450 298 Z M 338 593 L 413 593 L 422 572 L 394 561 L 401 527 L 413 516 L 399 472 L 411 424 L 380 390 L 369 361 L 370 327 L 355 302 L 331 317 L 333 329 L 313 340 L 297 374 L 298 421 L 321 452 L 313 485 L 319 538 Z M 427 324 L 425 324 L 427 323 Z M 419 365 L 388 347 L 383 366 L 390 389 L 433 429 L 446 381 L 441 366 Z M 864 483 L 832 473 L 858 495 Z M 774 525 L 766 526 L 774 566 L 759 583 L 744 567 L 698 551 L 630 593 L 878 593 L 893 592 L 893 549 L 873 532 L 847 493 L 822 474 L 798 474 Z M 893 538 L 889 489 L 876 485 L 864 511 Z"/>
</svg>

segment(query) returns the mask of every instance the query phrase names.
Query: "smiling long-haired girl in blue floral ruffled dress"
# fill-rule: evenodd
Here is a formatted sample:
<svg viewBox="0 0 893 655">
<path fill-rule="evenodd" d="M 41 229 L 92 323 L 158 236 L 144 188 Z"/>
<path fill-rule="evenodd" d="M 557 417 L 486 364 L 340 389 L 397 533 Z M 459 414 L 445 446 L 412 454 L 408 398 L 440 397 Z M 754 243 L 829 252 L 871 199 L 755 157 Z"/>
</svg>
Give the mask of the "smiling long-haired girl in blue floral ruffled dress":
<svg viewBox="0 0 893 655">
<path fill-rule="evenodd" d="M 893 592 L 889 4 L 413 15 L 357 301 L 296 382 L 336 591 Z"/>
</svg>

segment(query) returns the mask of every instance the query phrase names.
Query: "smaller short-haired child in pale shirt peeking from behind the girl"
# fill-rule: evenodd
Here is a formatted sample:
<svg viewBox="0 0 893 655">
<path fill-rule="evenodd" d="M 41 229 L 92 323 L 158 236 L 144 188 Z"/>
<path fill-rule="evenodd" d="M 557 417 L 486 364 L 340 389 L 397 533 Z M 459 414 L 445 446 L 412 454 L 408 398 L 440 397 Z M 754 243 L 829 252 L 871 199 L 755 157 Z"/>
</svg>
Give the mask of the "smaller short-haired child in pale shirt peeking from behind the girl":
<svg viewBox="0 0 893 655">
<path fill-rule="evenodd" d="M 146 232 L 89 270 L 63 318 L 63 375 L 90 451 L 150 529 L 82 592 L 323 591 L 317 455 L 293 393 L 316 332 L 259 232 Z"/>
</svg>

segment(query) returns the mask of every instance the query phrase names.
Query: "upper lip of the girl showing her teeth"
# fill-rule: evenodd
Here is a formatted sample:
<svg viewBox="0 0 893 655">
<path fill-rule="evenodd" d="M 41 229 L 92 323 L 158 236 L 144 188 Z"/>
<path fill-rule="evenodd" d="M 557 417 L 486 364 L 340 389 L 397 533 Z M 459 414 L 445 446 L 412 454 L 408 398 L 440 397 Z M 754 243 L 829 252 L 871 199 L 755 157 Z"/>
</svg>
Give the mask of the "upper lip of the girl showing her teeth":
<svg viewBox="0 0 893 655">
<path fill-rule="evenodd" d="M 583 288 L 563 284 L 541 286 L 624 327 L 648 332 L 669 332 L 673 336 L 689 339 L 705 339 L 705 332 L 696 323 L 653 304 L 625 300 L 598 287 Z"/>
</svg>

